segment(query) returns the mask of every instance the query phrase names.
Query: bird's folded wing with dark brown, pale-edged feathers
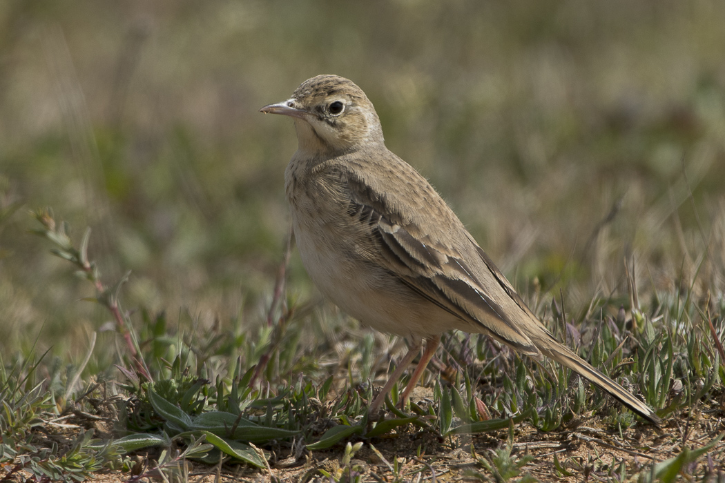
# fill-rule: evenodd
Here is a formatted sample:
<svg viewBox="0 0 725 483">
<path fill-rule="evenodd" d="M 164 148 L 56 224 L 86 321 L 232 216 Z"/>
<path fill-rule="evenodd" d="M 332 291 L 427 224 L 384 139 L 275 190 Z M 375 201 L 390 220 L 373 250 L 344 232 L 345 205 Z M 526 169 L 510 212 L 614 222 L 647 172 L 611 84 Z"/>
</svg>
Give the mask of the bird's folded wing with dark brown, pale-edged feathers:
<svg viewBox="0 0 725 483">
<path fill-rule="evenodd" d="M 415 174 L 417 175 L 417 172 Z M 373 239 L 376 239 L 381 252 L 370 253 L 371 261 L 383 264 L 385 269 L 415 292 L 460 319 L 479 327 L 481 332 L 492 335 L 521 353 L 537 356 L 540 354 L 536 345 L 514 319 L 517 314 L 511 314 L 511 306 L 518 309 L 516 306 L 526 305 L 518 295 L 515 295 L 513 287 L 487 256 L 485 260 L 488 262 L 486 266 L 489 266 L 488 280 L 481 280 L 481 275 L 471 269 L 463 253 L 457 251 L 450 243 L 444 243 L 442 236 L 436 233 L 436 230 L 426 230 L 426 227 L 420 223 L 416 224 L 413 219 L 406 217 L 405 212 L 409 210 L 403 209 L 400 200 L 396 202 L 386 197 L 384 193 L 376 191 L 371 183 L 355 177 L 349 177 L 347 185 L 351 193 L 348 214 L 357 217 L 358 222 L 370 227 Z M 427 182 L 426 186 L 429 186 Z M 455 226 L 447 229 L 462 230 L 470 239 L 465 243 L 472 243 L 469 247 L 471 252 L 476 253 L 475 248 L 477 248 L 482 253 L 481 248 L 455 218 L 455 214 L 448 209 L 437 193 L 430 189 L 434 197 L 431 200 L 428 196 L 426 198 L 428 203 L 439 202 L 435 208 L 443 209 L 455 220 Z M 415 198 L 412 193 L 411 196 Z M 407 199 L 405 203 L 415 203 L 415 201 Z M 425 210 L 426 207 L 419 208 Z M 491 296 L 492 290 L 498 292 L 498 297 Z M 505 301 L 508 306 L 502 306 L 497 299 Z M 511 299 L 515 305 L 510 303 Z M 528 316 L 528 314 L 521 315 Z"/>
</svg>

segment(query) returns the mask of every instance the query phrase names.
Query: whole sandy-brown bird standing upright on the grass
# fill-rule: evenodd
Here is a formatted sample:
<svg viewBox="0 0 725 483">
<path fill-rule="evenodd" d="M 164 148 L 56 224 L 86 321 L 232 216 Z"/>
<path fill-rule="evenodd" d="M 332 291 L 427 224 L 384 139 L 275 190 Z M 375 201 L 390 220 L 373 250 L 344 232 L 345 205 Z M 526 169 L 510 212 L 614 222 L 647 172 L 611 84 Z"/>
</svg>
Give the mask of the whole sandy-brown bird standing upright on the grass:
<svg viewBox="0 0 725 483">
<path fill-rule="evenodd" d="M 425 341 L 399 399 L 405 404 L 442 334 L 457 329 L 552 358 L 661 424 L 544 327 L 428 180 L 386 148 L 378 114 L 352 80 L 312 77 L 260 112 L 294 119 L 298 146 L 284 172 L 285 193 L 312 282 L 349 316 L 410 340 L 369 413 L 379 411 Z"/>
</svg>

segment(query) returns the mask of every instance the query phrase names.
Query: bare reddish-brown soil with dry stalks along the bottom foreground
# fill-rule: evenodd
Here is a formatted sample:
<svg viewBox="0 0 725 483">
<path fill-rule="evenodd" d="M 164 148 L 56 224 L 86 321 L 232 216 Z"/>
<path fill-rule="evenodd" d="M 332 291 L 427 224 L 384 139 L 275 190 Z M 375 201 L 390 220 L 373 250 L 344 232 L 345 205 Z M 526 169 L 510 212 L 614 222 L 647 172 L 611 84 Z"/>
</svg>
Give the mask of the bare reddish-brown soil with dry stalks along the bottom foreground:
<svg viewBox="0 0 725 483">
<path fill-rule="evenodd" d="M 623 464 L 626 475 L 632 476 L 649 468 L 653 462 L 674 458 L 685 446 L 700 448 L 724 432 L 725 406 L 722 402 L 712 402 L 711 406 L 701 406 L 698 411 L 683 411 L 671 416 L 662 428 L 637 424 L 620 432 L 604 427 L 602 419 L 597 417 L 574 419 L 553 432 L 541 432 L 528 423 L 519 424 L 514 428 L 511 454 L 514 459 L 533 455 L 534 459 L 523 467 L 521 476 L 528 473 L 540 482 L 600 481 L 621 475 Z M 402 429 L 386 437 L 363 440 L 363 443 L 346 471 L 341 471 L 344 465 L 342 444 L 330 450 L 298 451 L 299 458 L 295 458 L 294 450 L 278 447 L 272 448 L 273 458 L 267 470 L 236 464 L 189 463 L 188 481 L 329 481 L 320 470 L 346 481 L 344 476 L 350 468 L 360 474 L 364 482 L 496 481 L 478 458 L 490 457 L 494 450 L 504 448 L 508 443 L 508 429 L 443 439 L 431 432 Z M 138 468 L 153 468 L 156 457 L 154 452 L 138 454 L 141 463 Z M 725 441 L 720 441 L 707 456 L 690 465 L 687 474 L 725 473 L 724 461 Z M 120 472 L 95 475 L 97 482 L 125 482 L 130 478 L 131 474 Z"/>
</svg>

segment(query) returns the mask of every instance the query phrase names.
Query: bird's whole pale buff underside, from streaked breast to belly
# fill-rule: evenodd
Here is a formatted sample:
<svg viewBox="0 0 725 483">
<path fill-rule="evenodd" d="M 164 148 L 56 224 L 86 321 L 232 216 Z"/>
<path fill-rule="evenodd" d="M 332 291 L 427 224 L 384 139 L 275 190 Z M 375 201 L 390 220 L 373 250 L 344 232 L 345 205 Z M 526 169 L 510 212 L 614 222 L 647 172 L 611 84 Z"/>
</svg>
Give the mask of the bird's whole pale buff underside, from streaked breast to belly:
<svg viewBox="0 0 725 483">
<path fill-rule="evenodd" d="M 344 184 L 288 167 L 286 191 L 302 264 L 323 295 L 381 332 L 427 337 L 451 328 L 450 314 L 379 264 L 374 228 L 348 214 Z"/>
</svg>

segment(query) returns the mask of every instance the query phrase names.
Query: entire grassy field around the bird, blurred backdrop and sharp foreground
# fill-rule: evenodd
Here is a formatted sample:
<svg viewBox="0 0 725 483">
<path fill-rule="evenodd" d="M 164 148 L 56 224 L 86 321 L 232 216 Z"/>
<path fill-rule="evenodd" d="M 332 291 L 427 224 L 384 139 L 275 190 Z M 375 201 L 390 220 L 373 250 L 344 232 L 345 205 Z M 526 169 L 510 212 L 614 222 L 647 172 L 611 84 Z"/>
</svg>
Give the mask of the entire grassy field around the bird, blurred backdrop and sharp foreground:
<svg viewBox="0 0 725 483">
<path fill-rule="evenodd" d="M 484 479 L 723 471 L 707 444 L 725 377 L 724 16 L 710 1 L 5 1 L 3 471 L 23 455 L 37 481 L 130 470 L 146 443 L 138 479 L 184 479 L 204 453 L 249 477 L 330 458 L 337 481 L 430 476 L 457 450 Z M 428 400 L 368 424 L 405 345 L 320 300 L 286 250 L 294 129 L 257 113 L 320 73 L 368 93 L 392 151 L 559 340 L 670 421 L 664 436 L 570 371 L 463 333 L 444 336 Z M 596 441 L 519 465 L 527 428 Z"/>
</svg>

